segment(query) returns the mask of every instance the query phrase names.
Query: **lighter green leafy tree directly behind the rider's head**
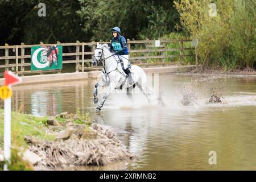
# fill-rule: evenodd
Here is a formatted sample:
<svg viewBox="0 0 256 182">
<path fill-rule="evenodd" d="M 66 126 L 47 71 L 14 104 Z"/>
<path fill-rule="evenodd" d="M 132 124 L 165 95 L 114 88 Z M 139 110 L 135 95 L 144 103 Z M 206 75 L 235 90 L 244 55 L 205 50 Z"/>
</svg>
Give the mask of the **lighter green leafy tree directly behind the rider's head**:
<svg viewBox="0 0 256 182">
<path fill-rule="evenodd" d="M 115 26 L 129 39 L 142 35 L 155 38 L 173 31 L 178 21 L 172 1 L 79 1 L 84 31 L 96 41 L 109 40 L 110 30 Z"/>
</svg>

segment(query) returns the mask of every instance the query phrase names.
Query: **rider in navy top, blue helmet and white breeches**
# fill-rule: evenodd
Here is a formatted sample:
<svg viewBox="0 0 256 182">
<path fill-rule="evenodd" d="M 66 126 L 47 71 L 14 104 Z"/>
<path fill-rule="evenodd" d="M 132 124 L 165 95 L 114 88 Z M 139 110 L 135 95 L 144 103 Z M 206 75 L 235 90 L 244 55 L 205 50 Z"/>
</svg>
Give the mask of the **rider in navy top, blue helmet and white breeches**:
<svg viewBox="0 0 256 182">
<path fill-rule="evenodd" d="M 133 77 L 131 72 L 131 64 L 129 61 L 129 51 L 127 48 L 126 39 L 120 35 L 121 30 L 118 27 L 112 28 L 113 38 L 111 40 L 110 52 L 114 52 L 115 55 L 119 57 L 122 68 L 125 70 L 128 75 L 129 84 L 133 84 Z"/>
</svg>

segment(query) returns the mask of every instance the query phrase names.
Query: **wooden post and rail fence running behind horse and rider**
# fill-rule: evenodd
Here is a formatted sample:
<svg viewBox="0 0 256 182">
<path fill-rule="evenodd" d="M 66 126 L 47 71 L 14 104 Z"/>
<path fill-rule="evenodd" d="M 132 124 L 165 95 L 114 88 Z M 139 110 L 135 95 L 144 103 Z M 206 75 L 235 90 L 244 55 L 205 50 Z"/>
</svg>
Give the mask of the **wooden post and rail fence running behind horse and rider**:
<svg viewBox="0 0 256 182">
<path fill-rule="evenodd" d="M 155 47 L 155 40 L 127 40 L 127 46 L 129 48 L 130 57 L 132 64 L 147 64 L 148 61 L 158 63 L 166 63 L 166 59 L 177 58 L 180 63 L 183 63 L 184 57 L 195 57 L 195 47 L 190 46 L 184 47 L 185 43 L 192 42 L 192 40 L 160 40 L 159 47 Z M 99 42 L 99 43 L 110 43 L 110 42 Z M 63 46 L 63 66 L 64 64 L 75 65 L 75 72 L 85 72 L 86 70 L 92 70 L 90 61 L 94 55 L 97 42 L 79 42 L 76 43 L 53 43 L 53 44 L 40 44 L 26 45 L 20 44 L 16 46 L 0 46 L 0 70 L 10 70 L 18 75 L 23 76 L 24 74 L 43 74 L 46 72 L 58 72 L 61 70 L 51 71 L 31 71 L 31 46 L 51 46 L 60 45 Z M 173 45 L 178 45 L 174 48 Z M 167 46 L 169 45 L 169 46 Z M 168 48 L 172 47 L 172 48 Z M 184 51 L 187 51 L 187 54 Z M 173 54 L 171 52 L 176 52 Z M 5 61 L 3 61 L 5 60 Z M 154 61 L 152 61 L 154 60 Z M 98 67 L 96 69 L 99 69 Z"/>
</svg>

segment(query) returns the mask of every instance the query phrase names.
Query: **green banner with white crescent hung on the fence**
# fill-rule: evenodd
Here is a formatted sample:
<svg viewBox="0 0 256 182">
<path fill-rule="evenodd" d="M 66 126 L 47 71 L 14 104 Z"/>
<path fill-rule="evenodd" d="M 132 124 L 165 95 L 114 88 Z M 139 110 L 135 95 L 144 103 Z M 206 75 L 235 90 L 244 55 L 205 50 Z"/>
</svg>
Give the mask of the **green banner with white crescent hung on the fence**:
<svg viewBox="0 0 256 182">
<path fill-rule="evenodd" d="M 62 69 L 62 46 L 32 46 L 31 71 Z"/>
</svg>

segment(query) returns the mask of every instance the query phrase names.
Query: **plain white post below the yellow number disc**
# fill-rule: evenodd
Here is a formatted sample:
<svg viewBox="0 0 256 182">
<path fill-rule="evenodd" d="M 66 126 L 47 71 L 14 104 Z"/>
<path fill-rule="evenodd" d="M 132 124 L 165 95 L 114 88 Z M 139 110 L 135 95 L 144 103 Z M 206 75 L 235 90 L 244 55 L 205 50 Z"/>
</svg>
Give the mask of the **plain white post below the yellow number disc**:
<svg viewBox="0 0 256 182">
<path fill-rule="evenodd" d="M 5 99 L 5 116 L 4 116 L 4 156 L 5 160 L 11 162 L 11 97 Z M 5 171 L 8 171 L 7 164 L 3 167 Z"/>
</svg>

